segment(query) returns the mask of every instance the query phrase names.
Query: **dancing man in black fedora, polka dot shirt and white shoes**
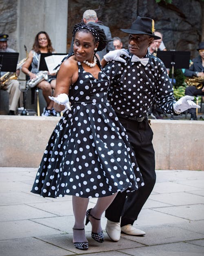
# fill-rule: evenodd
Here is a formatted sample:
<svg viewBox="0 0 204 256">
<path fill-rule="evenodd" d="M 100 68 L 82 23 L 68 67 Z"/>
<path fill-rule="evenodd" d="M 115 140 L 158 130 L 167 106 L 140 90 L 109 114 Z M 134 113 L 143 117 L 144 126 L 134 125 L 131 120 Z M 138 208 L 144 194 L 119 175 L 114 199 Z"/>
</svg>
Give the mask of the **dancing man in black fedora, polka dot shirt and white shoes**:
<svg viewBox="0 0 204 256">
<path fill-rule="evenodd" d="M 110 103 L 126 129 L 144 186 L 128 194 L 119 192 L 106 210 L 106 231 L 113 241 L 120 239 L 121 232 L 145 235 L 144 231 L 133 227 L 133 223 L 156 181 L 153 132 L 148 120 L 153 101 L 171 115 L 182 113 L 191 106 L 199 107 L 191 101 L 191 96 L 184 96 L 176 102 L 164 63 L 148 53 L 153 40 L 160 39 L 154 34 L 153 19 L 137 16 L 130 29 L 121 30 L 129 34 L 129 49 L 109 52 L 101 63 L 111 80 Z"/>
</svg>

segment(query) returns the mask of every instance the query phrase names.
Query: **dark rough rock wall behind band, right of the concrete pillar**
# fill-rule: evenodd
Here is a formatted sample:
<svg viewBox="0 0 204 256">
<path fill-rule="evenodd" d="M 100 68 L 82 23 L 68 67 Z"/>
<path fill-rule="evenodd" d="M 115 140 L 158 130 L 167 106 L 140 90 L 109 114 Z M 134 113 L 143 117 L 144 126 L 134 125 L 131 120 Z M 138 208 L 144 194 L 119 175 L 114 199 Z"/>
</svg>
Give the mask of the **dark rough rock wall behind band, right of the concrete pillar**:
<svg viewBox="0 0 204 256">
<path fill-rule="evenodd" d="M 71 43 L 71 29 L 80 22 L 86 9 L 94 9 L 98 19 L 109 26 L 112 36 L 119 36 L 127 47 L 127 34 L 120 28 L 129 28 L 137 15 L 151 17 L 155 28 L 164 35 L 168 50 L 191 51 L 191 58 L 197 56 L 197 46 L 202 38 L 201 0 L 172 0 L 172 4 L 155 0 L 90 0 L 86 2 L 69 0 L 67 47 Z"/>
</svg>

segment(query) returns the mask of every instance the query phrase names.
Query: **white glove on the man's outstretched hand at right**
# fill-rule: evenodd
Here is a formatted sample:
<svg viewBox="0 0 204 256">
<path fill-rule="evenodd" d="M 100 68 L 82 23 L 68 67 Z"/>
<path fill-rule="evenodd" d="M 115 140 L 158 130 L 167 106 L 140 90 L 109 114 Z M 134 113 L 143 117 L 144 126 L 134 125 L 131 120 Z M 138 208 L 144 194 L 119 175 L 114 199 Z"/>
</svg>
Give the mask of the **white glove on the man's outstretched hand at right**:
<svg viewBox="0 0 204 256">
<path fill-rule="evenodd" d="M 186 95 L 177 100 L 177 102 L 173 104 L 173 109 L 175 113 L 180 114 L 191 108 L 200 109 L 200 106 L 196 105 L 195 102 L 192 101 L 193 99 L 193 96 Z"/>
</svg>

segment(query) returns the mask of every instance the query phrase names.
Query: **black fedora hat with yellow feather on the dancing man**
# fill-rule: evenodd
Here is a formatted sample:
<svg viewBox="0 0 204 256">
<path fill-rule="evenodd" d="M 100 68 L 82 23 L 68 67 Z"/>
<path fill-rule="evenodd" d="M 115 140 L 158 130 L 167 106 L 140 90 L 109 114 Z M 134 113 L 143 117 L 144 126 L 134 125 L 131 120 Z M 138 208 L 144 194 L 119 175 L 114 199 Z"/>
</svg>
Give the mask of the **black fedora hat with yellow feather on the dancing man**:
<svg viewBox="0 0 204 256">
<path fill-rule="evenodd" d="M 137 16 L 130 29 L 120 30 L 128 34 L 145 34 L 153 37 L 154 39 L 161 39 L 160 36 L 155 36 L 154 20 L 148 17 Z"/>
</svg>

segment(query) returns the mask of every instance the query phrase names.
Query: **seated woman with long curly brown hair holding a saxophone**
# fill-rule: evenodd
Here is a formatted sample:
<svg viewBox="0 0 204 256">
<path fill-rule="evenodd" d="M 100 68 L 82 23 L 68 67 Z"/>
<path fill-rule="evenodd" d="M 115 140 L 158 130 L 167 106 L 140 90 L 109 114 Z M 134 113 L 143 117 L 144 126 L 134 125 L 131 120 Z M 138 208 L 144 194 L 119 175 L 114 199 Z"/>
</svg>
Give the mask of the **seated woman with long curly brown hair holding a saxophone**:
<svg viewBox="0 0 204 256">
<path fill-rule="evenodd" d="M 38 75 L 40 75 L 38 71 L 38 59 L 40 53 L 55 53 L 49 35 L 45 31 L 40 31 L 35 36 L 33 48 L 29 52 L 27 61 L 22 66 L 22 71 L 26 75 L 29 75 L 30 79 L 33 79 L 33 81 L 35 81 L 35 79 L 38 78 Z M 30 66 L 32 67 L 31 71 L 29 70 Z M 55 84 L 55 75 L 49 74 L 48 79 L 44 79 L 36 85 L 38 88 L 42 89 L 42 94 L 47 103 L 47 106 L 43 110 L 42 116 L 60 116 L 60 113 L 57 113 L 53 109 L 53 101 L 48 97 L 52 96 L 53 89 L 55 89 Z"/>
</svg>

